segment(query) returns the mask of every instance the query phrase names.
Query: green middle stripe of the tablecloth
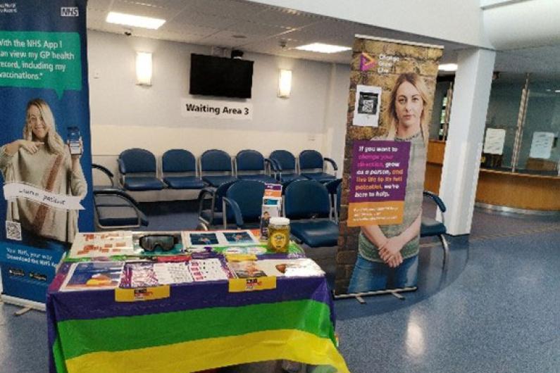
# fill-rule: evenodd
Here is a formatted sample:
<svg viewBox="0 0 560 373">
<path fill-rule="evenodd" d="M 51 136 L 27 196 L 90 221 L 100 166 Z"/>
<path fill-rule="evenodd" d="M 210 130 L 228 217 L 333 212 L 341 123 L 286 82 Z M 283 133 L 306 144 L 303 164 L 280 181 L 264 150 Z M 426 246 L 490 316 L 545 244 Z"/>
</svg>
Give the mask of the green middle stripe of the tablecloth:
<svg viewBox="0 0 560 373">
<path fill-rule="evenodd" d="M 225 331 L 235 315 L 235 323 Z M 304 315 L 304 318 L 302 318 Z M 236 336 L 254 331 L 299 329 L 335 343 L 330 309 L 312 300 L 203 308 L 153 315 L 58 322 L 66 360 L 97 351 L 165 346 L 197 339 Z M 106 336 L 111 336 L 107 339 Z"/>
</svg>

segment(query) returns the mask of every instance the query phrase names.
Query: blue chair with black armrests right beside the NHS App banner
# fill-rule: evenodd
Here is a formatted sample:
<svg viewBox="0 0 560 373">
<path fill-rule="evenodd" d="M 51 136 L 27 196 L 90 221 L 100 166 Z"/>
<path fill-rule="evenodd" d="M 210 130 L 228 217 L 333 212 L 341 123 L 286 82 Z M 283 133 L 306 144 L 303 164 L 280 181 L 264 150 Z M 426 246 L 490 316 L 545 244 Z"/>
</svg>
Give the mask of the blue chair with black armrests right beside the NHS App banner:
<svg viewBox="0 0 560 373">
<path fill-rule="evenodd" d="M 138 203 L 122 189 L 115 186 L 113 172 L 102 165 L 92 163 L 110 181 L 108 185 L 94 185 L 94 218 L 99 229 L 132 229 L 147 227 L 149 222 L 139 209 Z"/>
</svg>

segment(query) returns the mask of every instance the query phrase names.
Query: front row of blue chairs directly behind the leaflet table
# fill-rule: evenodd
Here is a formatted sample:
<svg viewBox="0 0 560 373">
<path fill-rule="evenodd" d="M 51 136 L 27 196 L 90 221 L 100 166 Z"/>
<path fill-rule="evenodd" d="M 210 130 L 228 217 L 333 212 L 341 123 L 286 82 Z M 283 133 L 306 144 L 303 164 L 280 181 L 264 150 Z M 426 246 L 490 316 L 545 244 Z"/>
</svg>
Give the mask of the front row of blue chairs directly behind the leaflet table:
<svg viewBox="0 0 560 373">
<path fill-rule="evenodd" d="M 291 222 L 292 236 L 309 247 L 336 246 L 342 179 L 328 183 L 298 179 L 287 185 L 282 215 Z M 206 188 L 199 194 L 199 221 L 203 229 L 259 227 L 265 184 L 237 180 Z M 209 200 L 206 197 L 210 195 Z M 210 203 L 210 206 L 205 206 Z M 206 208 L 205 208 L 206 207 Z"/>
</svg>

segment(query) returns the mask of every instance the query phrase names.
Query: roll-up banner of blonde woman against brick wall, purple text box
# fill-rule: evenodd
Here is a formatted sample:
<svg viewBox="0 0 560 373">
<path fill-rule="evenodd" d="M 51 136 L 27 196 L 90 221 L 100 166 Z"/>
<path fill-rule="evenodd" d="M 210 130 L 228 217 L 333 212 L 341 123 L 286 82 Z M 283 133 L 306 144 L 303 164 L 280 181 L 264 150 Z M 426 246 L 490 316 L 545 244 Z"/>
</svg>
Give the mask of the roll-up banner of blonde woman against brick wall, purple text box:
<svg viewBox="0 0 560 373">
<path fill-rule="evenodd" d="M 416 289 L 428 124 L 442 51 L 356 35 L 337 295 Z"/>
</svg>

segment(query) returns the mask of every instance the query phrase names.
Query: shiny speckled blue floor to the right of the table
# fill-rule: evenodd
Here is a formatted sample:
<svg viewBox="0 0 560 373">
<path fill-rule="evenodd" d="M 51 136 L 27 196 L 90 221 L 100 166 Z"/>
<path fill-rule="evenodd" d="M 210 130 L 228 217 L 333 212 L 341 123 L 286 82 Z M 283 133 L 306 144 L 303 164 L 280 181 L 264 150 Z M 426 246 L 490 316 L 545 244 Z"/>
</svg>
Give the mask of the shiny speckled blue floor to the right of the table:
<svg viewBox="0 0 560 373">
<path fill-rule="evenodd" d="M 452 260 L 466 251 L 468 262 L 439 284 L 441 271 L 423 273 L 419 289 L 435 293 L 337 301 L 350 371 L 560 372 L 559 242 L 556 229 L 452 244 Z"/>
</svg>

